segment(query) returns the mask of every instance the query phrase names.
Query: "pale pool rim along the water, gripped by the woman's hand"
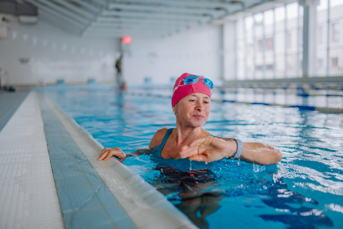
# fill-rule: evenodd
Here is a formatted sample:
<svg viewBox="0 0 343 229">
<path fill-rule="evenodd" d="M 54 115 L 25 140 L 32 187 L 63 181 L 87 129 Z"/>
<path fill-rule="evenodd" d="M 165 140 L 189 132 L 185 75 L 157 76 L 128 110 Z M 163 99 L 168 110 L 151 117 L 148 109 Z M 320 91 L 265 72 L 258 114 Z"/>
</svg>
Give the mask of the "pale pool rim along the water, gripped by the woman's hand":
<svg viewBox="0 0 343 229">
<path fill-rule="evenodd" d="M 104 148 L 84 128 L 69 118 L 46 95 L 49 104 L 68 134 L 75 141 L 100 178 L 118 200 L 126 214 L 139 229 L 196 229 L 186 215 L 171 204 L 144 179 L 120 163 L 115 157 L 98 161 Z"/>
</svg>

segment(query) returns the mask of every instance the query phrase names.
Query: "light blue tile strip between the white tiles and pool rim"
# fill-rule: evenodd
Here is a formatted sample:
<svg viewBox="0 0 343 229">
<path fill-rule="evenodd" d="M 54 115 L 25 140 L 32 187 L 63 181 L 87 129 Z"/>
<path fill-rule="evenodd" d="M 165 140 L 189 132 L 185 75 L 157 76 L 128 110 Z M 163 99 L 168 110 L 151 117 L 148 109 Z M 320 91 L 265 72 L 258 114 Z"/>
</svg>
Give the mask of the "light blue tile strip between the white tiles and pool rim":
<svg viewBox="0 0 343 229">
<path fill-rule="evenodd" d="M 137 229 L 41 94 L 39 102 L 66 228 Z"/>
</svg>

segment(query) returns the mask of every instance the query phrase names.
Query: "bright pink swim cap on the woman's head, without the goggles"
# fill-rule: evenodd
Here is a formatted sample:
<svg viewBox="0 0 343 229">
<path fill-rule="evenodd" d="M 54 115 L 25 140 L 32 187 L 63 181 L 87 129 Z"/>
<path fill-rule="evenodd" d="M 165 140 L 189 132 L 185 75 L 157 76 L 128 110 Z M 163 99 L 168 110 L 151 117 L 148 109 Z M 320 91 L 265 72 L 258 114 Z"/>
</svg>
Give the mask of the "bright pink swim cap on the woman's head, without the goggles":
<svg viewBox="0 0 343 229">
<path fill-rule="evenodd" d="M 185 96 L 192 94 L 192 93 L 204 93 L 211 98 L 211 90 L 203 84 L 201 81 L 203 80 L 203 76 L 199 77 L 197 83 L 184 85 L 184 79 L 188 76 L 198 76 L 189 73 L 182 74 L 179 78 L 177 78 L 174 88 L 173 88 L 173 97 L 171 97 L 171 106 L 173 107 L 177 102 L 179 102 Z M 177 89 L 175 90 L 175 88 Z"/>
</svg>

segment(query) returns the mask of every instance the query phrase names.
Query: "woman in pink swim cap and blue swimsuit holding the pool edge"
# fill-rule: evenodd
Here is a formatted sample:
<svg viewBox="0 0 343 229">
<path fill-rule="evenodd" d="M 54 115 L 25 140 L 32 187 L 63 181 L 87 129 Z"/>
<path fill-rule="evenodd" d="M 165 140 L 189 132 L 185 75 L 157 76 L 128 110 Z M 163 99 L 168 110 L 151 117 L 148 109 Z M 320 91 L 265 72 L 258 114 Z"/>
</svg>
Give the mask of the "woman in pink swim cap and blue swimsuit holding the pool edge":
<svg viewBox="0 0 343 229">
<path fill-rule="evenodd" d="M 158 130 L 149 147 L 163 159 L 189 158 L 190 161 L 212 162 L 223 158 L 240 159 L 262 165 L 276 164 L 282 159 L 273 146 L 258 142 L 242 142 L 237 138 L 211 135 L 202 128 L 209 118 L 213 83 L 203 76 L 182 74 L 175 82 L 171 106 L 176 115 L 176 128 Z M 118 147 L 105 148 L 98 160 L 126 157 Z"/>
</svg>

